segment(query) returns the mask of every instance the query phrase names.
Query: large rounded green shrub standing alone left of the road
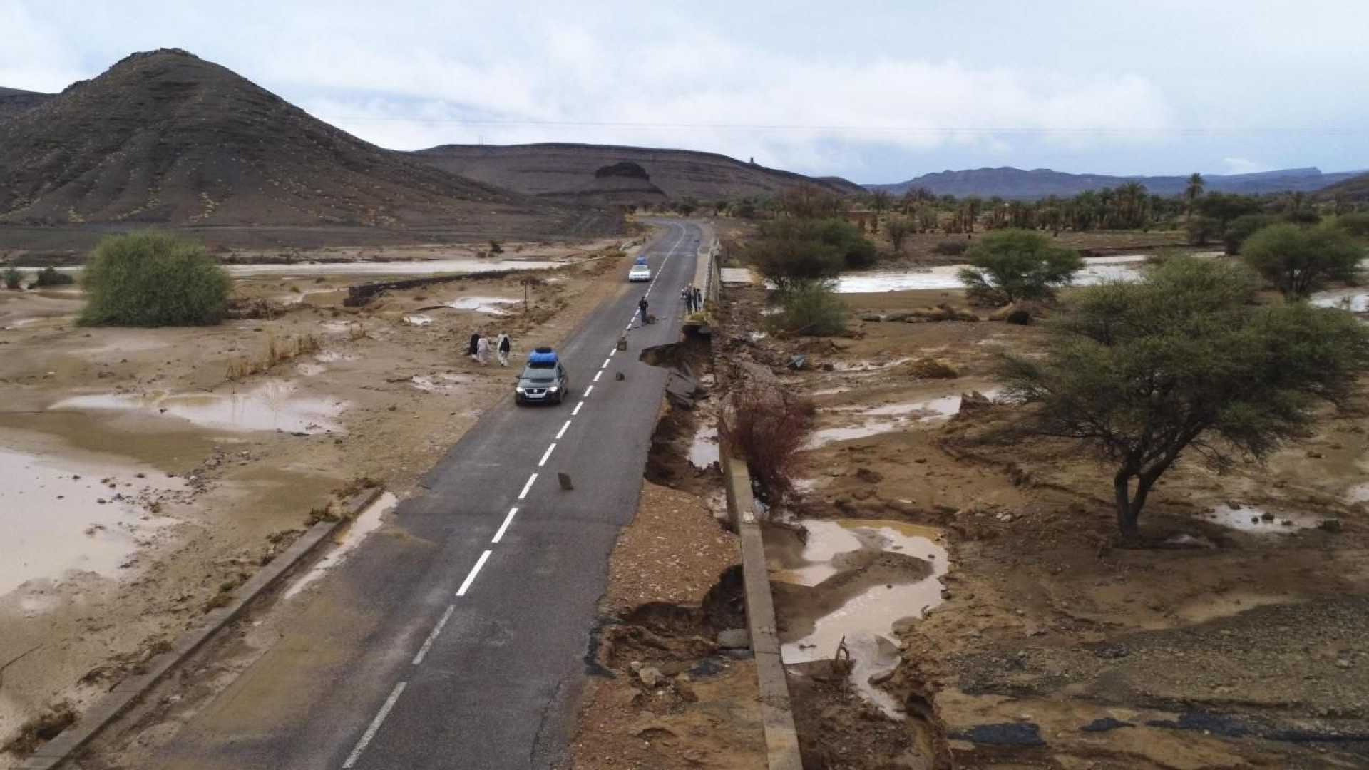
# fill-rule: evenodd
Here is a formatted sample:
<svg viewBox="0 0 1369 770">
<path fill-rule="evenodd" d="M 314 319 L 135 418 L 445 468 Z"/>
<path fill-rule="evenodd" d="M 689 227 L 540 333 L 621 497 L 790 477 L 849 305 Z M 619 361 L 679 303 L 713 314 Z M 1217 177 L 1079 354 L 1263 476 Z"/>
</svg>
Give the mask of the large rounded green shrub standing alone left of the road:
<svg viewBox="0 0 1369 770">
<path fill-rule="evenodd" d="M 90 326 L 204 326 L 223 319 L 231 280 L 204 247 L 145 230 L 100 241 L 82 278 Z"/>
</svg>

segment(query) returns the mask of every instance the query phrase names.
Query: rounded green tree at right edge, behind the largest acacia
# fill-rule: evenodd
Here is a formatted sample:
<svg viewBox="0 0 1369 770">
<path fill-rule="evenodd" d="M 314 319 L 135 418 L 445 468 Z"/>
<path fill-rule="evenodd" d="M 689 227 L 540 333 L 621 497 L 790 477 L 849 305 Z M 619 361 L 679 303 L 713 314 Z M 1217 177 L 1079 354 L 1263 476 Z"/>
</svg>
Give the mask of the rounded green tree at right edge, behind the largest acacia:
<svg viewBox="0 0 1369 770">
<path fill-rule="evenodd" d="M 1287 297 L 1306 297 L 1327 281 L 1354 281 L 1364 249 L 1344 230 L 1270 225 L 1240 245 L 1240 255 Z"/>
</svg>

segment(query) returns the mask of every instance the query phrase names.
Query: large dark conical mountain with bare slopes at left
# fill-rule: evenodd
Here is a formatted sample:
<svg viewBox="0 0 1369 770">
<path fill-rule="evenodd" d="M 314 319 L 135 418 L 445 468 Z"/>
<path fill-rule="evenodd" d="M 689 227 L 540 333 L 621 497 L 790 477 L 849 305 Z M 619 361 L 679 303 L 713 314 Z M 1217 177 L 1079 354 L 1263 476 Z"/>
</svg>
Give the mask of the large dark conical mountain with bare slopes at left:
<svg viewBox="0 0 1369 770">
<path fill-rule="evenodd" d="M 382 149 L 218 64 L 134 53 L 0 121 L 0 223 L 602 229 Z"/>
</svg>

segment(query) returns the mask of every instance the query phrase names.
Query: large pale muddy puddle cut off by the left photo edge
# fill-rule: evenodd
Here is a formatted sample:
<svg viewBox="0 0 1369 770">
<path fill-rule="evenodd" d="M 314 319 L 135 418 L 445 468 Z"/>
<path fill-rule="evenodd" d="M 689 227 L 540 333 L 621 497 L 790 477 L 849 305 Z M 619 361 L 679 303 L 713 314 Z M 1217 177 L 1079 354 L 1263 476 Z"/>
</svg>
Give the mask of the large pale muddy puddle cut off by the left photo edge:
<svg viewBox="0 0 1369 770">
<path fill-rule="evenodd" d="M 145 501 L 182 489 L 149 467 L 0 448 L 0 595 L 70 570 L 118 575 L 149 530 L 175 523 Z"/>
</svg>

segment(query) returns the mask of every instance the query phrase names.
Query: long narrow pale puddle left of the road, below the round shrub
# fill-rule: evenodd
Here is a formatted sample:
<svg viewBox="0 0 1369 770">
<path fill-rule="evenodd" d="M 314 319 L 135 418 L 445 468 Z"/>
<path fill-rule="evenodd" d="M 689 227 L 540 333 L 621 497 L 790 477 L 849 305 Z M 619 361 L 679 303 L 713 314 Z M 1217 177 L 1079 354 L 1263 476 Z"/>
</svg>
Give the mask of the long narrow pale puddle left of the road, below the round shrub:
<svg viewBox="0 0 1369 770">
<path fill-rule="evenodd" d="M 111 410 L 148 417 L 171 417 L 205 427 L 248 432 L 340 433 L 334 418 L 345 404 L 330 399 L 294 395 L 294 385 L 268 381 L 241 393 L 100 393 L 75 396 L 52 410 Z"/>
</svg>

